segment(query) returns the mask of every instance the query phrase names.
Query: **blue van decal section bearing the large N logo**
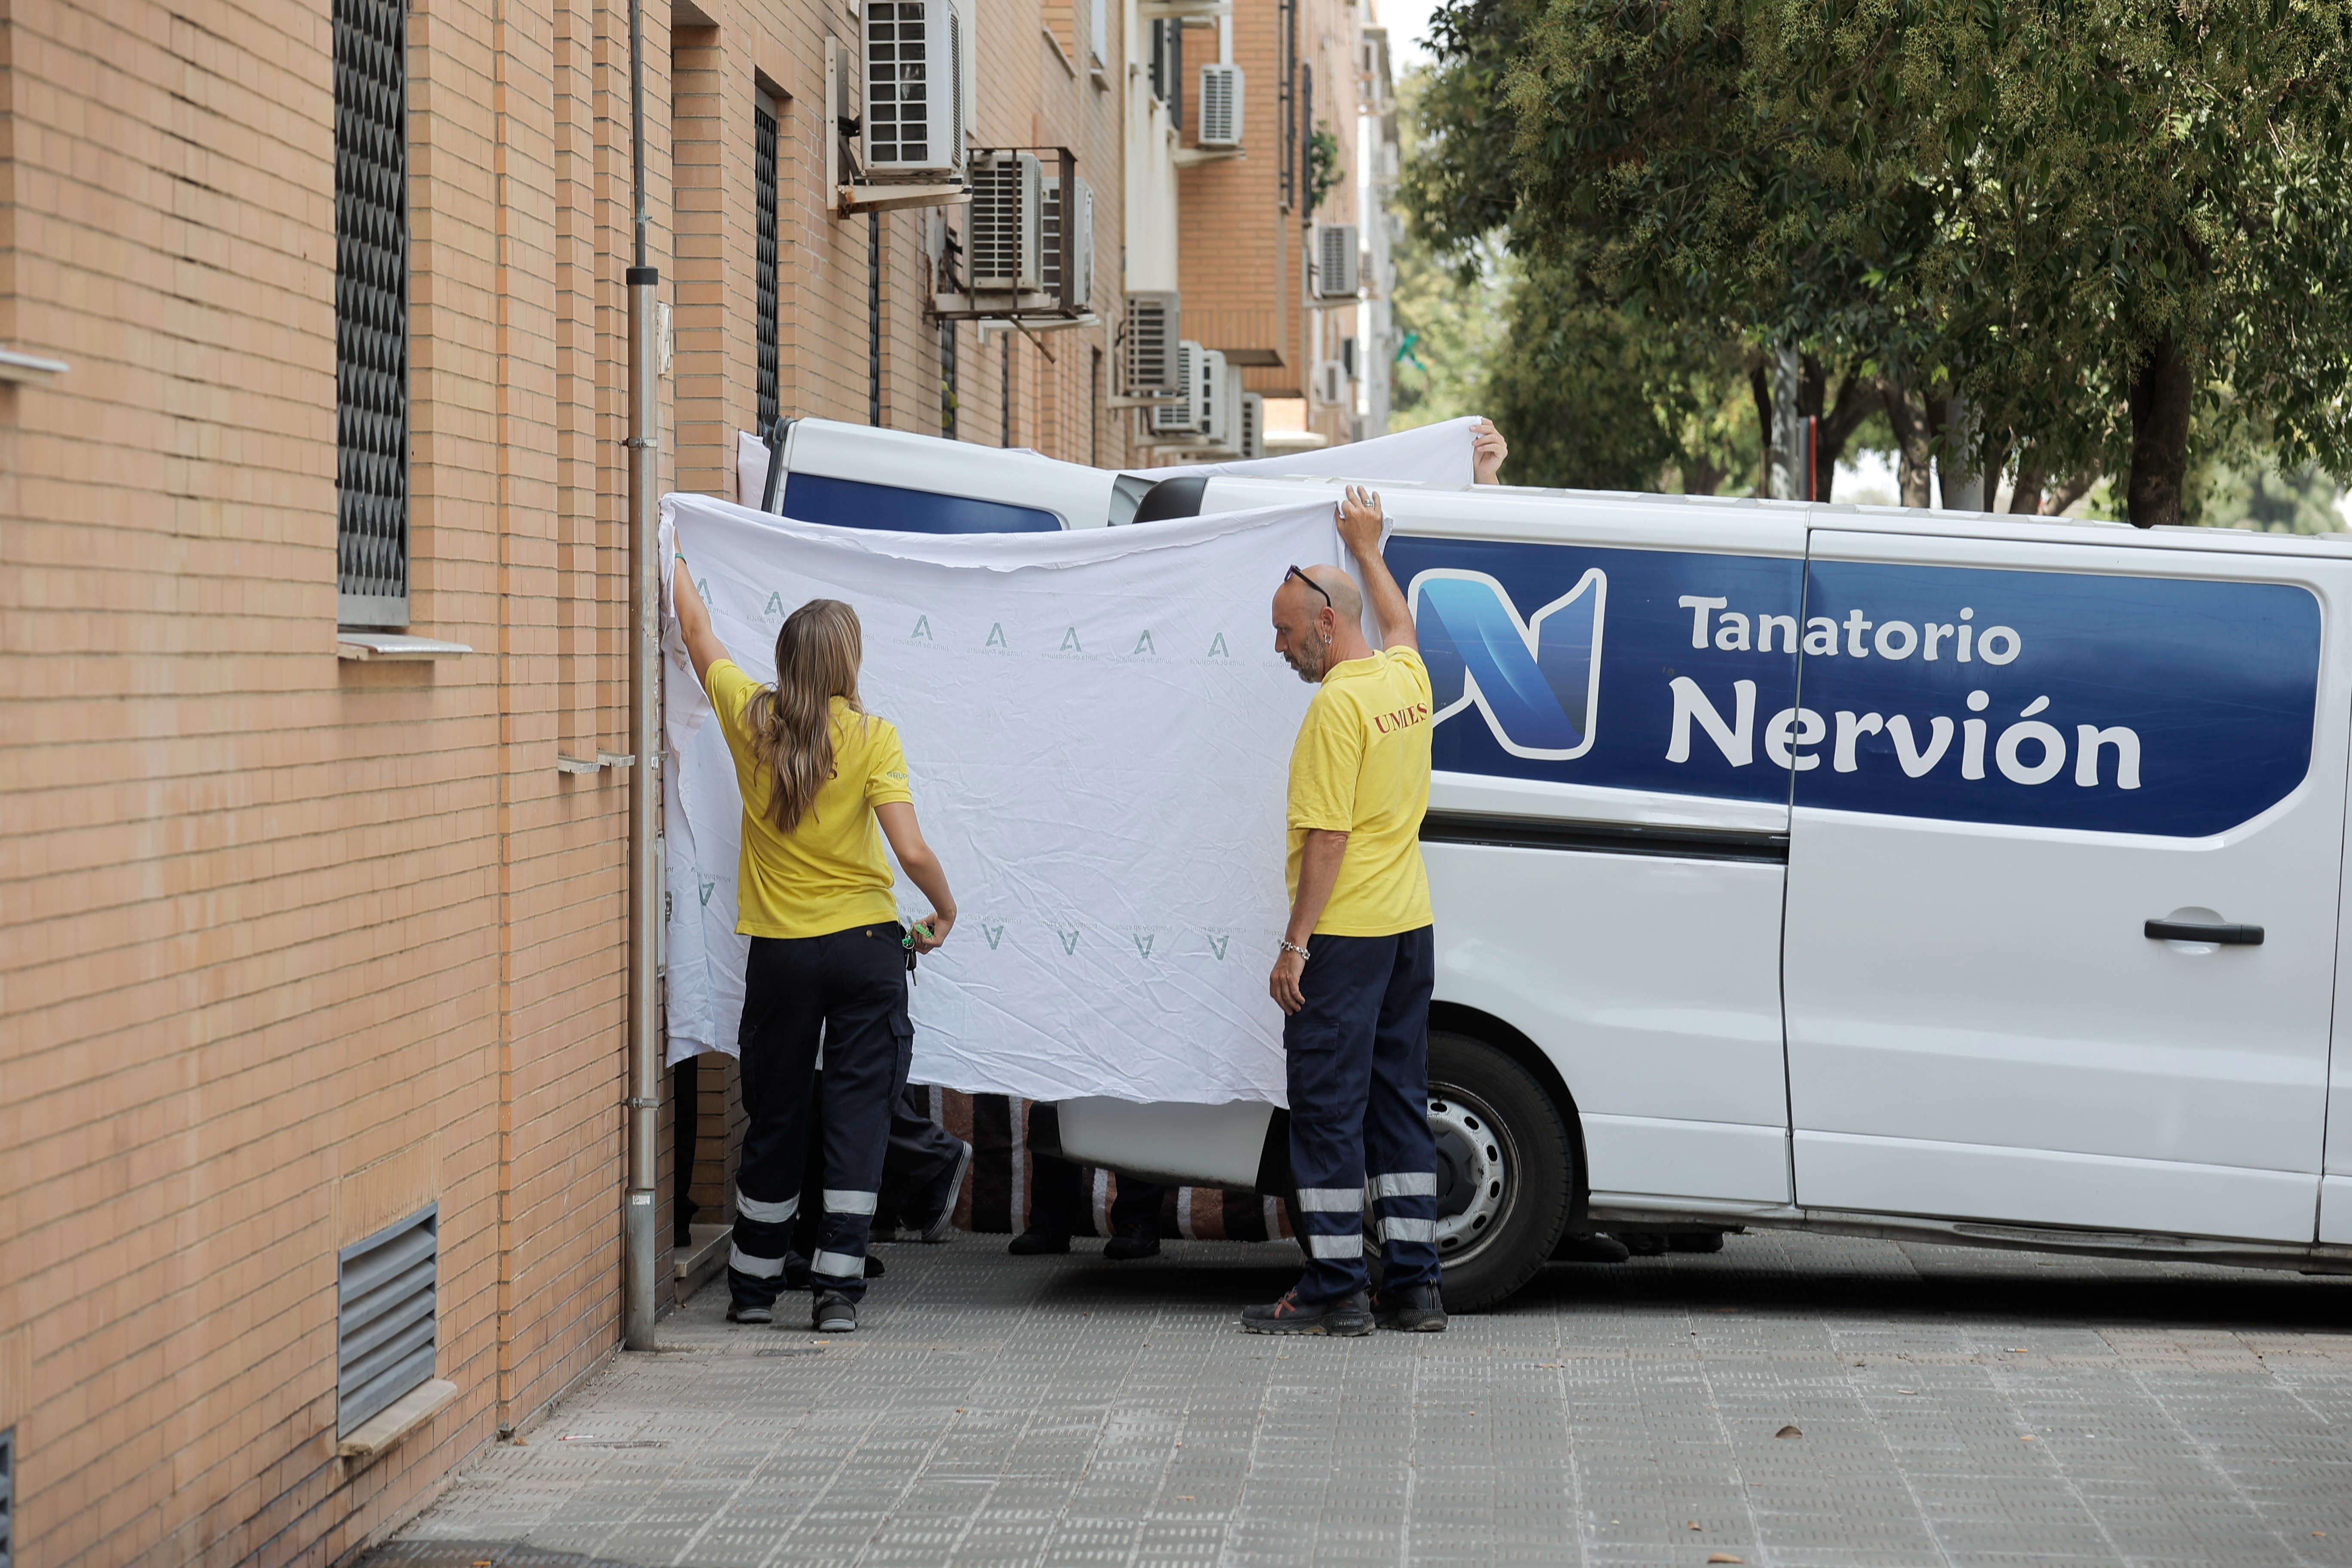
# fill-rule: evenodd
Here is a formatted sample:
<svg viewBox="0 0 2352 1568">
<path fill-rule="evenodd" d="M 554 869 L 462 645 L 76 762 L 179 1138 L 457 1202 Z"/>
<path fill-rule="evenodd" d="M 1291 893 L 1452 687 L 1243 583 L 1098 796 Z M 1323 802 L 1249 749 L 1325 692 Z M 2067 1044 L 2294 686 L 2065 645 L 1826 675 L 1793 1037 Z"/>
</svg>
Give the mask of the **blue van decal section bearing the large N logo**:
<svg viewBox="0 0 2352 1568">
<path fill-rule="evenodd" d="M 1785 802 L 1764 719 L 1797 701 L 1804 562 L 1388 541 L 1414 599 L 1437 769 Z"/>
</svg>

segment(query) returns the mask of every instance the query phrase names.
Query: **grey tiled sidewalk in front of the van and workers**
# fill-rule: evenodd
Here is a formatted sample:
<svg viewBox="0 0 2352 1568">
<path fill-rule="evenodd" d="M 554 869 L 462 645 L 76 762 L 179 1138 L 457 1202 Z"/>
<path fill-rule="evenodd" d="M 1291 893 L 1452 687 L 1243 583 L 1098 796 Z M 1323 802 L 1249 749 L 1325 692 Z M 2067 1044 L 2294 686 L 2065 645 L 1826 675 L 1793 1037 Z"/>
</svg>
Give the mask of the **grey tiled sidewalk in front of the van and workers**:
<svg viewBox="0 0 2352 1568">
<path fill-rule="evenodd" d="M 1232 1326 L 1289 1244 L 1080 1248 L 706 1288 L 367 1568 L 2352 1566 L 2352 1279 L 1755 1234 L 1322 1342 Z"/>
</svg>

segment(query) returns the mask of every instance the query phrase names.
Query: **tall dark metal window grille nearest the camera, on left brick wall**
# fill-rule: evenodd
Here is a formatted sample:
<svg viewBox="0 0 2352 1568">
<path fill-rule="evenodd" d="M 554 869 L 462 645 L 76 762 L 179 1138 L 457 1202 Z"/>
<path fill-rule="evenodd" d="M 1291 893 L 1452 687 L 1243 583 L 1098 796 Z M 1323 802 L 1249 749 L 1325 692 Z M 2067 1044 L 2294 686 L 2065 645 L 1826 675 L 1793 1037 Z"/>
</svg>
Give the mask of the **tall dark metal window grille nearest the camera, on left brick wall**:
<svg viewBox="0 0 2352 1568">
<path fill-rule="evenodd" d="M 336 621 L 409 623 L 409 68 L 402 0 L 334 0 Z"/>
</svg>

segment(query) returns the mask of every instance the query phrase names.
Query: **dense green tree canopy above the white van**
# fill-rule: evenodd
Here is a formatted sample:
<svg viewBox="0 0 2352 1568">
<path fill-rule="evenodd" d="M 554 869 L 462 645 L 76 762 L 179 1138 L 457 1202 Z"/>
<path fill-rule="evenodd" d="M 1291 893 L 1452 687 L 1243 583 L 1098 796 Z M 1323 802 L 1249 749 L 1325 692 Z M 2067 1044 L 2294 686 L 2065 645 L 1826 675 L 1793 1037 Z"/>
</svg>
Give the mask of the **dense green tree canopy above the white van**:
<svg viewBox="0 0 2352 1568">
<path fill-rule="evenodd" d="M 2234 418 L 2352 470 L 2343 0 L 1454 0 L 1406 167 L 1684 343 L 1959 393 L 1987 449 L 2194 510 Z"/>
</svg>

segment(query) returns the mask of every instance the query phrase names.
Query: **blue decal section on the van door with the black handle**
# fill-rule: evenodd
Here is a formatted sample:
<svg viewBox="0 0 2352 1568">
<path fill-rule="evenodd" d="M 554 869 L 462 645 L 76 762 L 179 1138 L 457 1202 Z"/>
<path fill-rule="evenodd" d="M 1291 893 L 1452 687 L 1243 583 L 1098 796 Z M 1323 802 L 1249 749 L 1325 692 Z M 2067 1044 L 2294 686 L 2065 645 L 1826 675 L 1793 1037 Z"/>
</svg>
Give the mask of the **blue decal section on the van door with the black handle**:
<svg viewBox="0 0 2352 1568">
<path fill-rule="evenodd" d="M 1813 562 L 1804 614 L 1799 806 L 2204 837 L 2310 771 L 2305 588 Z"/>
</svg>

